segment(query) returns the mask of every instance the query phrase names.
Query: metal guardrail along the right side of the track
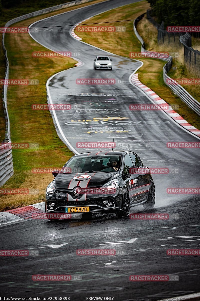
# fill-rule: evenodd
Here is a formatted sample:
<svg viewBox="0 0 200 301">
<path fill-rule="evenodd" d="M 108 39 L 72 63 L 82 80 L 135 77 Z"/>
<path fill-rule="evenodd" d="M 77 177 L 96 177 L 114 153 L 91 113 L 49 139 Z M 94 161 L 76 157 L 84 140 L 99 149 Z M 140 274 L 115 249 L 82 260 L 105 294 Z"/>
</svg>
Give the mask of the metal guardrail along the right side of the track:
<svg viewBox="0 0 200 301">
<path fill-rule="evenodd" d="M 146 52 L 146 53 L 150 53 L 150 54 L 154 54 L 155 52 L 148 51 L 148 50 L 145 49 L 145 42 L 143 41 L 142 37 L 139 35 L 139 33 L 136 29 L 137 23 L 139 22 L 139 20 L 142 19 L 142 17 L 144 15 L 145 14 L 140 15 L 133 22 L 133 30 L 134 30 L 134 33 L 135 33 L 136 37 L 139 39 L 139 41 L 142 44 L 141 51 Z M 181 98 L 181 100 L 184 101 L 188 105 L 188 107 L 190 107 L 194 112 L 196 112 L 200 116 L 200 103 L 178 83 L 169 84 L 169 82 L 173 82 L 173 79 L 167 75 L 167 72 L 169 72 L 169 70 L 172 67 L 172 57 L 169 56 L 167 58 L 165 58 L 165 57 L 157 57 L 157 58 L 159 58 L 160 60 L 163 60 L 163 61 L 167 61 L 167 63 L 163 66 L 163 79 L 164 79 L 164 82 L 166 83 L 166 85 L 170 89 L 172 89 L 172 91 L 176 95 L 178 95 Z"/>
</svg>

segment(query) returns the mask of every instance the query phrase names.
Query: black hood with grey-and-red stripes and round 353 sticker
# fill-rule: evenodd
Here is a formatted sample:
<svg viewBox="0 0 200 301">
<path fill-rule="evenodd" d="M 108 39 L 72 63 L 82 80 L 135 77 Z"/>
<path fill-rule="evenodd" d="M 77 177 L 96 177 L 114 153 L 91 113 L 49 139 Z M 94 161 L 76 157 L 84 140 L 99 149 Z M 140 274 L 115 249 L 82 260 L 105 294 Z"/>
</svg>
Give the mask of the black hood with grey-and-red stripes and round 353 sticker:
<svg viewBox="0 0 200 301">
<path fill-rule="evenodd" d="M 113 175 L 116 175 L 117 172 L 87 172 L 87 173 L 73 173 L 73 174 L 58 174 L 54 179 L 55 188 L 62 189 L 73 189 L 76 186 L 82 188 L 92 188 L 92 187 L 101 187 L 106 184 L 109 180 L 112 179 Z M 73 180 L 74 177 L 79 175 L 90 175 L 91 178 L 76 181 Z"/>
</svg>

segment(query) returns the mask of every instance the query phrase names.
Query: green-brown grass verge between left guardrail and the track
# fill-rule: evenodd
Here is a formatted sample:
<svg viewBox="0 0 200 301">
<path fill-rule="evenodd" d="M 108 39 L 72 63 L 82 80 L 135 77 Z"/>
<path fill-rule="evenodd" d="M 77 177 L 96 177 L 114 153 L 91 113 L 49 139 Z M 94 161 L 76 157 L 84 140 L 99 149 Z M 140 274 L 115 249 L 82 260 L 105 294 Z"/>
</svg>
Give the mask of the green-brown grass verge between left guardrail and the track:
<svg viewBox="0 0 200 301">
<path fill-rule="evenodd" d="M 90 2 L 96 3 L 101 1 Z M 87 4 L 85 4 L 87 5 Z M 84 5 L 76 5 L 76 8 Z M 15 26 L 29 26 L 44 17 L 49 17 L 72 8 L 23 20 Z M 10 64 L 10 79 L 38 79 L 35 86 L 8 86 L 7 105 L 10 117 L 11 141 L 15 143 L 38 143 L 39 148 L 13 149 L 14 175 L 1 187 L 39 189 L 37 194 L 0 195 L 0 211 L 31 205 L 45 200 L 46 186 L 53 180 L 52 174 L 34 174 L 33 168 L 62 167 L 73 153 L 59 139 L 48 110 L 31 109 L 31 104 L 47 103 L 46 81 L 59 71 L 74 66 L 71 58 L 33 58 L 33 51 L 46 51 L 28 33 L 5 35 Z M 3 72 L 3 68 L 0 69 Z"/>
</svg>

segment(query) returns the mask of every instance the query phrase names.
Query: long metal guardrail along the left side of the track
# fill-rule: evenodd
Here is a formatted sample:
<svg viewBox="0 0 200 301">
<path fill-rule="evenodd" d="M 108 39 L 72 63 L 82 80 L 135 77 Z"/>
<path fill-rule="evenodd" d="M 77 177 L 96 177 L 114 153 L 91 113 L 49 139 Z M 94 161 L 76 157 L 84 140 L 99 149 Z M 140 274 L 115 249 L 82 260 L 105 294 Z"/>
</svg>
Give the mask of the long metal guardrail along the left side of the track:
<svg viewBox="0 0 200 301">
<path fill-rule="evenodd" d="M 5 27 L 8 27 L 16 22 L 35 17 L 35 16 L 40 16 L 45 13 L 49 13 L 52 11 L 57 11 L 63 8 L 67 8 L 73 5 L 78 5 L 82 3 L 87 3 L 91 2 L 93 0 L 76 0 L 73 2 L 68 2 L 64 4 L 59 4 L 55 5 L 49 8 L 44 8 L 41 9 L 40 11 L 34 11 L 29 14 L 25 14 L 20 17 L 16 17 L 12 20 L 9 20 L 6 24 Z M 5 79 L 8 79 L 9 77 L 9 61 L 7 57 L 7 50 L 5 48 L 4 44 L 4 38 L 5 38 L 5 33 L 2 34 L 2 45 L 3 45 L 3 50 L 4 50 L 4 55 L 5 55 L 5 60 L 6 60 L 6 73 L 5 73 Z M 5 129 L 5 140 L 2 143 L 11 143 L 11 138 L 10 138 L 10 120 L 8 116 L 8 111 L 7 111 L 7 85 L 3 86 L 3 107 L 4 107 L 4 115 L 5 115 L 5 121 L 6 121 L 6 129 Z M 0 187 L 13 175 L 13 159 L 12 159 L 12 150 L 11 148 L 2 148 L 0 149 Z"/>
</svg>

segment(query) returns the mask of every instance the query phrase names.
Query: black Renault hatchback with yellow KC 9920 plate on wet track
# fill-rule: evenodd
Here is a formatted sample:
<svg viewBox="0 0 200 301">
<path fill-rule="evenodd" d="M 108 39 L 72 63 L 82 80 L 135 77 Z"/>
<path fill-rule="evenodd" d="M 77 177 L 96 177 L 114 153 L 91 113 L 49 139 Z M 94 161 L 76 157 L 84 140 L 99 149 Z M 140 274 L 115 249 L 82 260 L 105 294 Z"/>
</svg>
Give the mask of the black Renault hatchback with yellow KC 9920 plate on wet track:
<svg viewBox="0 0 200 301">
<path fill-rule="evenodd" d="M 50 213 L 115 213 L 127 216 L 130 207 L 155 204 L 150 169 L 130 151 L 94 151 L 70 158 L 46 190 Z"/>
</svg>

